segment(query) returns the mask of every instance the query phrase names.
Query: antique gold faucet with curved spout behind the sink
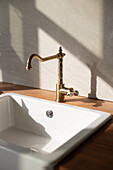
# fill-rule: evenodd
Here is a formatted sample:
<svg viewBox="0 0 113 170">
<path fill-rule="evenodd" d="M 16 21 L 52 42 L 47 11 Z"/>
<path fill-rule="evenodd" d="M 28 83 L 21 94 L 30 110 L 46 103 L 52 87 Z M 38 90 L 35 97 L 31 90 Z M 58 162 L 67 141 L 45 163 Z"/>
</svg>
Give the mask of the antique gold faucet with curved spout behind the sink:
<svg viewBox="0 0 113 170">
<path fill-rule="evenodd" d="M 57 53 L 56 55 L 53 55 L 53 56 L 45 57 L 45 58 L 40 57 L 38 54 L 32 54 L 28 58 L 27 66 L 26 66 L 27 70 L 32 69 L 31 62 L 32 62 L 33 58 L 36 58 L 41 62 L 52 60 L 52 59 L 58 59 L 58 83 L 56 84 L 56 101 L 57 102 L 64 102 L 65 101 L 65 95 L 68 95 L 68 96 L 75 95 L 75 96 L 77 96 L 78 93 L 79 93 L 77 90 L 74 90 L 73 88 L 67 88 L 63 84 L 63 57 L 64 56 L 65 56 L 65 54 L 62 53 L 61 47 L 59 48 L 59 53 Z"/>
</svg>

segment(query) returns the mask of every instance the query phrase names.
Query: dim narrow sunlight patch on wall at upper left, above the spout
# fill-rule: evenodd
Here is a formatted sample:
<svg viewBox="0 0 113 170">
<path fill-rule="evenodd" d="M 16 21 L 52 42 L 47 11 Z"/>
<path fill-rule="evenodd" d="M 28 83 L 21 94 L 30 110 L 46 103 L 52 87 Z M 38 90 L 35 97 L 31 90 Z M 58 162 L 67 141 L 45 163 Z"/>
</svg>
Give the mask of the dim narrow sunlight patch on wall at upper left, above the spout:
<svg viewBox="0 0 113 170">
<path fill-rule="evenodd" d="M 22 14 L 11 4 L 9 5 L 9 13 L 11 46 L 20 60 L 24 62 Z"/>
</svg>

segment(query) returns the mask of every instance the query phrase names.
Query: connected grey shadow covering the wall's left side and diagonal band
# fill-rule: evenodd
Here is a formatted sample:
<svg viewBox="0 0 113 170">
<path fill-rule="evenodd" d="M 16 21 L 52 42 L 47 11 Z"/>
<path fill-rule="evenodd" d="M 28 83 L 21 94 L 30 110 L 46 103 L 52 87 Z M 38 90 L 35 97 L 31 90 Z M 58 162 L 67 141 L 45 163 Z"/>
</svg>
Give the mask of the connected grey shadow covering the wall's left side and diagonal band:
<svg viewBox="0 0 113 170">
<path fill-rule="evenodd" d="M 89 97 L 96 98 L 97 76 L 103 79 L 109 86 L 113 87 L 113 1 L 103 2 L 103 58 L 99 59 L 91 53 L 85 46 L 79 43 L 75 38 L 70 36 L 61 27 L 55 24 L 51 19 L 42 14 L 35 8 L 35 1 L 13 1 L 1 0 L 0 22 L 2 23 L 1 43 L 0 43 L 0 68 L 2 70 L 3 81 L 27 84 L 31 81 L 39 87 L 39 68 L 28 74 L 25 71 L 26 60 L 29 54 L 38 53 L 38 35 L 37 29 L 41 28 L 59 44 L 62 44 L 75 57 L 82 61 L 91 71 Z M 9 11 L 12 8 L 12 13 Z M 16 15 L 21 21 L 22 29 L 22 47 L 18 45 L 18 29 L 11 19 Z M 11 21 L 12 20 L 12 21 Z M 12 25 L 11 25 L 12 24 Z M 17 30 L 17 32 L 15 31 Z M 12 33 L 14 34 L 14 39 Z M 17 37 L 16 37 L 17 36 Z M 65 38 L 64 38 L 65 37 Z M 98 38 L 98 37 L 97 37 Z M 33 40 L 33 41 L 32 41 Z M 19 48 L 22 48 L 21 50 Z M 15 50 L 16 49 L 16 50 Z M 23 52 L 21 52 L 23 51 Z M 78 57 L 79 56 L 79 57 Z M 10 59 L 9 59 L 10 58 Z M 35 61 L 38 66 L 38 61 Z M 16 70 L 16 71 L 15 71 Z M 36 75 L 35 75 L 36 74 Z M 21 75 L 21 76 L 20 76 Z M 32 75 L 32 77 L 31 77 Z M 10 76 L 10 77 L 9 77 Z M 37 77 L 37 79 L 36 79 Z M 24 82 L 23 82 L 24 80 Z M 22 82 L 22 83 L 21 83 Z"/>
</svg>

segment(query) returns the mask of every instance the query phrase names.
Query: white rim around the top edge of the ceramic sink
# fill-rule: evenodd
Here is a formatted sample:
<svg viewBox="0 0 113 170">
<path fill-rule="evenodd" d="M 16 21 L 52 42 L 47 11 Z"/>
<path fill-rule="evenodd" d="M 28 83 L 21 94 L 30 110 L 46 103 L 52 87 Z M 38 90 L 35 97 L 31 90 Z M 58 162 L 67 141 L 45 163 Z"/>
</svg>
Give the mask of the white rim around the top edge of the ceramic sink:
<svg viewBox="0 0 113 170">
<path fill-rule="evenodd" d="M 69 105 L 65 103 L 57 103 L 55 101 L 50 101 L 46 99 L 41 99 L 37 97 L 32 97 L 32 96 L 27 96 L 23 94 L 17 94 L 17 93 L 5 93 L 0 95 L 0 99 L 5 97 L 5 96 L 11 96 L 11 95 L 17 95 L 17 96 L 23 96 L 26 98 L 31 98 L 34 100 L 41 100 L 45 101 L 48 103 L 54 103 L 57 105 L 63 105 L 63 106 L 68 106 L 71 108 L 77 108 L 80 110 L 86 110 L 86 111 L 93 111 L 95 113 L 100 113 L 100 117 L 97 118 L 93 123 L 89 124 L 88 126 L 85 127 L 82 131 L 80 131 L 78 134 L 73 136 L 70 140 L 68 140 L 66 143 L 64 143 L 62 146 L 57 148 L 54 152 L 46 154 L 40 154 L 35 151 L 31 151 L 30 148 L 24 148 L 21 146 L 13 145 L 11 143 L 8 143 L 2 139 L 0 139 L 0 148 L 8 150 L 9 152 L 18 152 L 19 154 L 22 154 L 24 156 L 29 156 L 31 159 L 37 159 L 37 161 L 44 165 L 55 165 L 57 162 L 59 162 L 62 158 L 64 158 L 66 155 L 68 155 L 71 151 L 73 151 L 75 148 L 78 147 L 83 141 L 85 141 L 89 136 L 91 136 L 94 132 L 96 132 L 97 129 L 99 129 L 101 126 L 103 126 L 108 120 L 112 118 L 112 115 L 108 112 L 103 112 L 103 111 L 98 111 L 98 110 L 93 110 L 93 109 L 88 109 L 84 107 L 79 107 L 79 106 L 74 106 L 74 105 Z M 92 126 L 96 126 L 95 128 L 91 128 Z M 85 130 L 85 131 L 84 131 Z M 81 137 L 82 133 L 82 137 Z M 82 138 L 82 139 L 81 139 Z"/>
</svg>

